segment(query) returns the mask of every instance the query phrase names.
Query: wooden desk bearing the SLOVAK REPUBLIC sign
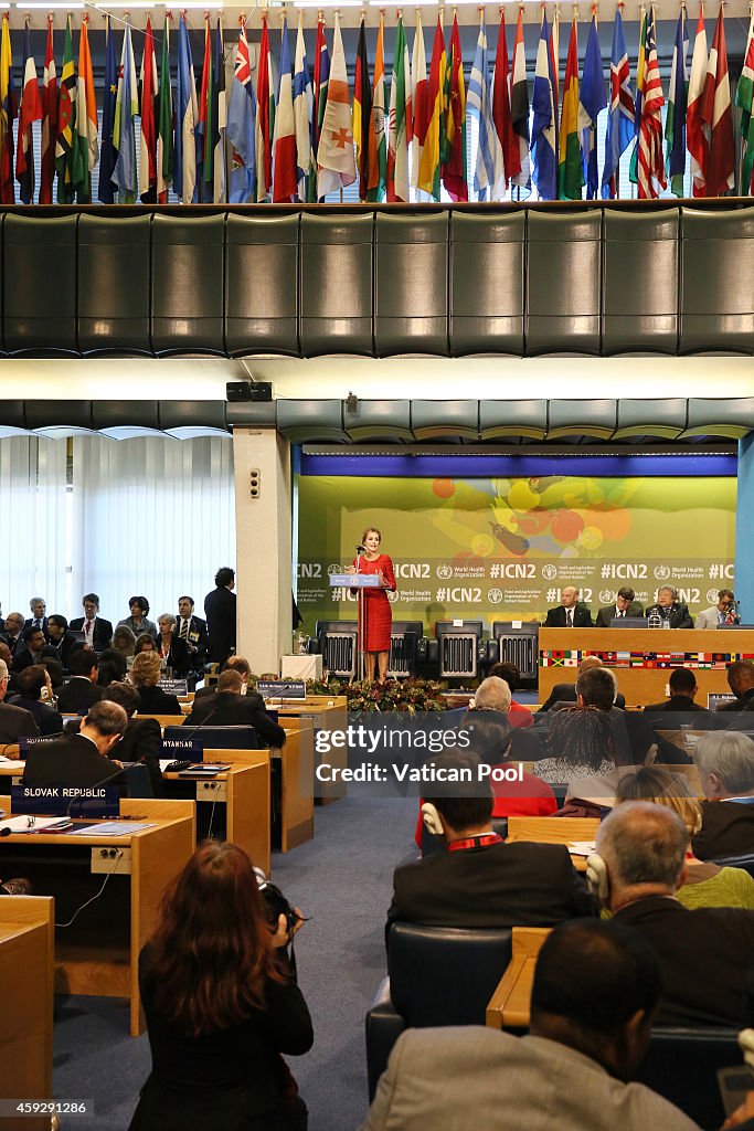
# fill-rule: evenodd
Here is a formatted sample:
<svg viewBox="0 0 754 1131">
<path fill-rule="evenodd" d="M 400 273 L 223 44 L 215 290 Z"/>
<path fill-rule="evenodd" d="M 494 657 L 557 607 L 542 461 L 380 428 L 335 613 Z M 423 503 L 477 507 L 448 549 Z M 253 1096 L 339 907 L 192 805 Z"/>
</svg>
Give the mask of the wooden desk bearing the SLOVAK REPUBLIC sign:
<svg viewBox="0 0 754 1131">
<path fill-rule="evenodd" d="M 9 797 L 0 796 L 0 809 L 10 812 Z M 150 822 L 150 828 L 130 836 L 99 838 L 96 829 L 86 836 L 12 834 L 0 840 L 0 872 L 32 873 L 36 890 L 55 895 L 58 916 L 68 918 L 78 906 L 71 907 L 67 898 L 67 881 L 73 869 L 80 877 L 81 865 L 86 864 L 103 880 L 111 877 L 102 893 L 107 899 L 94 903 L 92 910 L 83 910 L 72 927 L 55 932 L 55 991 L 128 998 L 130 1033 L 136 1037 L 144 1031 L 139 951 L 157 922 L 163 890 L 194 851 L 196 810 L 192 801 L 139 797 L 121 800 L 120 811 Z M 113 848 L 124 849 L 125 854 L 111 866 L 99 853 Z M 97 917 L 95 910 L 105 914 Z"/>
</svg>

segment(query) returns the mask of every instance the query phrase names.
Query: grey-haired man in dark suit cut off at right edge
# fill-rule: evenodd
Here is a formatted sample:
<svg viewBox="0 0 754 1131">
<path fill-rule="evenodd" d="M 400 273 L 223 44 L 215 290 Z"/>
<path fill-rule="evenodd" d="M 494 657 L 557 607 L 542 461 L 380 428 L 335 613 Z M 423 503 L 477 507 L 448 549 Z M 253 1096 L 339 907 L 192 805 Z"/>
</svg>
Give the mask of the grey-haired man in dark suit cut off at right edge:
<svg viewBox="0 0 754 1131">
<path fill-rule="evenodd" d="M 700 860 L 754 855 L 754 742 L 746 734 L 705 734 L 694 748 L 705 800 L 694 837 Z"/>
</svg>

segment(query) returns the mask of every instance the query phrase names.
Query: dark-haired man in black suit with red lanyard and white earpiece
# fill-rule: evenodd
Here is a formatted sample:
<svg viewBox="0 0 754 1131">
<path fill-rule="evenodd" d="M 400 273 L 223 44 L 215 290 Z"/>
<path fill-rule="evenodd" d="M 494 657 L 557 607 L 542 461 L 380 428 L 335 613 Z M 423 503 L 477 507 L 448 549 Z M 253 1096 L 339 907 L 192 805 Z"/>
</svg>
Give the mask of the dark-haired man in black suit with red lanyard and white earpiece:
<svg viewBox="0 0 754 1131">
<path fill-rule="evenodd" d="M 493 831 L 492 788 L 475 756 L 447 751 L 427 765 L 466 779 L 427 784 L 422 813 L 448 852 L 396 869 L 389 923 L 552 926 L 595 914 L 564 845 L 504 844 Z"/>
</svg>

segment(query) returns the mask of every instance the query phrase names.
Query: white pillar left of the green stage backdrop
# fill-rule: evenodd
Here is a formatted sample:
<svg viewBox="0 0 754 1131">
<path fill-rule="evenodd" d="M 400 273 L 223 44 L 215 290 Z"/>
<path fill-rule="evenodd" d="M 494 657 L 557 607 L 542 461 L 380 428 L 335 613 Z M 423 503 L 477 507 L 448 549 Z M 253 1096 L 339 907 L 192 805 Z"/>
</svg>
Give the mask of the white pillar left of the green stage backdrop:
<svg viewBox="0 0 754 1131">
<path fill-rule="evenodd" d="M 274 428 L 234 428 L 233 464 L 236 653 L 258 675 L 279 672 L 292 646 L 291 444 Z"/>
</svg>

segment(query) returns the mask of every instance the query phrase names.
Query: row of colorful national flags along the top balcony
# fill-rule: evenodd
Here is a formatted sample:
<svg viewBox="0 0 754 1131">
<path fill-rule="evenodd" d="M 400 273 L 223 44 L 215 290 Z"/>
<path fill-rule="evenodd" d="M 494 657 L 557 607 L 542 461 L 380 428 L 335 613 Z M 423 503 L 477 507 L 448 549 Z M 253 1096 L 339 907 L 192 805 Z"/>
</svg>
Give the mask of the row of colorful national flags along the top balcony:
<svg viewBox="0 0 754 1131">
<path fill-rule="evenodd" d="M 630 180 L 640 198 L 655 198 L 667 187 L 683 195 L 686 152 L 691 155 L 693 193 L 716 197 L 735 184 L 735 145 L 722 3 L 708 51 L 703 6 L 700 8 L 688 70 L 686 9 L 676 29 L 667 114 L 656 44 L 655 9 L 642 8 L 635 81 L 626 53 L 618 8 L 613 26 L 609 87 L 592 16 L 579 75 L 578 25 L 571 26 L 565 76 L 558 74 L 560 24 L 552 26 L 543 5 L 531 105 L 519 10 L 511 63 L 501 9 L 494 61 L 487 48 L 484 15 L 470 72 L 463 75 L 458 20 L 449 48 L 442 23 L 435 28 L 427 74 L 421 14 L 409 58 L 399 16 L 390 96 L 384 72 L 384 27 L 378 32 L 372 77 L 362 23 L 356 53 L 353 103 L 340 27 L 336 14 L 332 54 L 322 19 L 318 21 L 313 69 L 306 59 L 300 21 L 295 58 L 289 53 L 284 19 L 279 67 L 270 51 L 262 17 L 257 89 L 246 29 L 241 23 L 235 70 L 227 100 L 225 49 L 220 21 L 213 35 L 205 21 L 205 57 L 199 86 L 191 45 L 181 16 L 177 83 L 171 83 L 171 17 L 166 16 L 162 59 L 147 19 L 141 68 L 137 76 L 131 28 L 125 21 L 120 66 L 110 19 L 106 24 L 102 128 L 98 126 L 92 57 L 85 17 L 79 35 L 78 72 L 70 17 L 66 26 L 58 80 L 52 23 L 47 27 L 42 88 L 24 41 L 23 89 L 17 107 L 12 83 L 8 17 L 0 35 L 0 202 L 15 202 L 14 121 L 18 116 L 15 179 L 21 202 L 34 201 L 32 123 L 41 126 L 38 202 L 92 201 L 92 172 L 99 163 L 98 199 L 105 204 L 165 202 L 168 191 L 184 202 L 314 202 L 358 180 L 364 201 L 440 199 L 444 187 L 453 200 L 469 199 L 466 144 L 467 113 L 478 122 L 473 188 L 479 200 L 501 200 L 510 185 L 531 181 L 541 199 L 621 196 L 619 162 L 631 147 Z M 742 110 L 740 191 L 751 193 L 754 173 L 754 17 L 749 24 L 744 69 L 736 102 Z M 607 110 L 605 159 L 597 155 L 597 119 Z M 137 119 L 138 144 L 137 144 Z M 664 149 L 665 141 L 665 149 Z M 625 185 L 624 185 L 625 189 Z M 411 190 L 414 190 L 411 192 Z M 624 195 L 629 195 L 624 191 Z"/>
</svg>

